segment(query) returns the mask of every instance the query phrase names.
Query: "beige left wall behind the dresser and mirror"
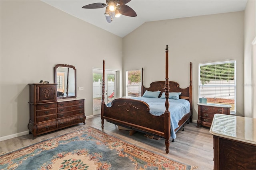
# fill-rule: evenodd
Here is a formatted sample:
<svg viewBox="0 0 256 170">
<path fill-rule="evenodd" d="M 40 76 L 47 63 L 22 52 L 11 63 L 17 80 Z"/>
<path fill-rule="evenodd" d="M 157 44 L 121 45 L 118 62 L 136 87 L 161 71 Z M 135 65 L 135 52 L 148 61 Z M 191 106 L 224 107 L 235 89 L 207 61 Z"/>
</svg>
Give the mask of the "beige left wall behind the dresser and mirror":
<svg viewBox="0 0 256 170">
<path fill-rule="evenodd" d="M 92 68 L 105 59 L 106 69 L 122 72 L 122 38 L 41 1 L 0 3 L 0 137 L 28 132 L 28 83 L 53 83 L 56 64 L 76 67 L 77 87 L 84 87 L 77 96 L 92 115 Z"/>
</svg>

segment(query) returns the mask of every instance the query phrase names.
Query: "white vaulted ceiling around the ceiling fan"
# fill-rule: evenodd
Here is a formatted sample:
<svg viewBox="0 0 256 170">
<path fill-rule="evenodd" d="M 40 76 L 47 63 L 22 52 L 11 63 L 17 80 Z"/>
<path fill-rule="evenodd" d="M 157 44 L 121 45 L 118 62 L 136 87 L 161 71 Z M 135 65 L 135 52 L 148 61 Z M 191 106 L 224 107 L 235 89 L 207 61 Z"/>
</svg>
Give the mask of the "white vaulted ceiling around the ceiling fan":
<svg viewBox="0 0 256 170">
<path fill-rule="evenodd" d="M 82 6 L 105 0 L 42 0 L 72 16 L 124 37 L 148 21 L 243 11 L 247 0 L 131 0 L 126 5 L 137 16 L 121 15 L 111 23 L 104 16 L 106 8 L 83 9 Z"/>
</svg>

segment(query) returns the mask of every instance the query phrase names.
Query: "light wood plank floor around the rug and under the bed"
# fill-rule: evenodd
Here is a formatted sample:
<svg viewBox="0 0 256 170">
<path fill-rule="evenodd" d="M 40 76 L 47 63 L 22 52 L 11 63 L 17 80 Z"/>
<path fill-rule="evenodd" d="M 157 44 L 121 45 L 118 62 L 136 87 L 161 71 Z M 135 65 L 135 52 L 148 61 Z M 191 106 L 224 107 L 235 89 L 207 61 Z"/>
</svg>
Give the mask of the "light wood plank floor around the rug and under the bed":
<svg viewBox="0 0 256 170">
<path fill-rule="evenodd" d="M 150 144 L 145 144 L 139 140 L 132 139 L 128 135 L 128 131 L 119 130 L 118 127 L 112 123 L 104 123 L 103 131 L 116 136 L 126 142 L 133 143 L 139 147 L 151 150 L 157 154 L 161 154 L 172 160 L 186 163 L 192 166 L 198 166 L 196 170 L 212 170 L 213 169 L 213 138 L 209 133 L 208 127 L 196 128 L 196 123 L 185 124 L 185 131 L 178 131 L 175 142 L 170 142 L 170 153 L 166 154 L 164 139 L 154 140 L 150 139 Z M 91 126 L 102 130 L 100 115 L 96 115 L 93 118 L 86 119 L 86 125 L 78 124 L 72 127 L 68 127 L 62 130 L 54 131 L 52 133 L 46 133 L 44 135 L 38 135 L 38 137 L 32 140 L 32 135 L 23 135 L 0 142 L 1 154 L 10 152 L 34 143 L 38 143 L 45 139 L 56 137 L 70 131 L 74 131 L 80 128 Z M 134 138 L 134 137 L 133 137 Z M 145 138 L 146 139 L 146 138 Z M 162 148 L 161 148 L 162 147 Z"/>
</svg>

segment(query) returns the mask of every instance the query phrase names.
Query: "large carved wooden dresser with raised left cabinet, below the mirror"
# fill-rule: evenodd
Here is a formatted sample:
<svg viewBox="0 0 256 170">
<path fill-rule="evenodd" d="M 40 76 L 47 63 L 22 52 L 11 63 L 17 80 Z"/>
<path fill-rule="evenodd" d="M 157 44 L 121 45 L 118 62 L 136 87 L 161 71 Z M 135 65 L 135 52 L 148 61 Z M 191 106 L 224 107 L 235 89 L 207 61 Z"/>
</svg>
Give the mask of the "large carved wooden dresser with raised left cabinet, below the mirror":
<svg viewBox="0 0 256 170">
<path fill-rule="evenodd" d="M 85 124 L 84 99 L 67 98 L 57 100 L 57 84 L 29 84 L 30 120 L 28 129 L 37 135 L 48 133 L 78 123 Z"/>
</svg>

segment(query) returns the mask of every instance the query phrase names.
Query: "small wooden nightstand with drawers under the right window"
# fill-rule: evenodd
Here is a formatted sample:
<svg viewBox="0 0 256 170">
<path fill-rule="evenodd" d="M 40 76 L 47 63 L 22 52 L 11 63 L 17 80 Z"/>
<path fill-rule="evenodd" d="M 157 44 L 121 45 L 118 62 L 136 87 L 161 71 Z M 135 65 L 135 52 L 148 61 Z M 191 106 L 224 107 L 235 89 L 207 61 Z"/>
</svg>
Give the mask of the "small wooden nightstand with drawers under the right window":
<svg viewBox="0 0 256 170">
<path fill-rule="evenodd" d="M 211 127 L 212 119 L 216 113 L 230 115 L 230 105 L 224 104 L 202 104 L 198 103 L 197 126 Z"/>
</svg>

